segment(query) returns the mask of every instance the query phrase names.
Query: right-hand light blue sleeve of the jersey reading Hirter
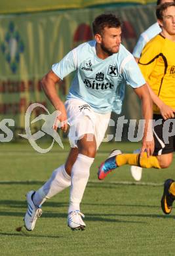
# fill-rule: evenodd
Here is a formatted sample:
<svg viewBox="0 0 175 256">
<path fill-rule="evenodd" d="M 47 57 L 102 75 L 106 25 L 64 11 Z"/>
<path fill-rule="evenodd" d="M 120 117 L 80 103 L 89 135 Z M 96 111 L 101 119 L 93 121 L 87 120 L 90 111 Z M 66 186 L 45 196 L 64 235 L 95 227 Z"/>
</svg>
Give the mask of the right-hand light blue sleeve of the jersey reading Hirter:
<svg viewBox="0 0 175 256">
<path fill-rule="evenodd" d="M 138 64 L 132 54 L 126 57 L 121 64 L 121 73 L 128 85 L 138 88 L 146 83 Z"/>
</svg>

